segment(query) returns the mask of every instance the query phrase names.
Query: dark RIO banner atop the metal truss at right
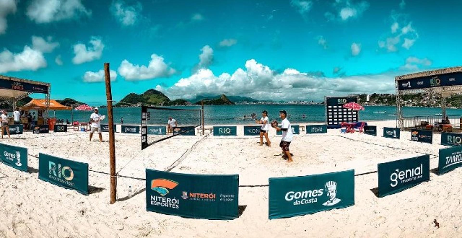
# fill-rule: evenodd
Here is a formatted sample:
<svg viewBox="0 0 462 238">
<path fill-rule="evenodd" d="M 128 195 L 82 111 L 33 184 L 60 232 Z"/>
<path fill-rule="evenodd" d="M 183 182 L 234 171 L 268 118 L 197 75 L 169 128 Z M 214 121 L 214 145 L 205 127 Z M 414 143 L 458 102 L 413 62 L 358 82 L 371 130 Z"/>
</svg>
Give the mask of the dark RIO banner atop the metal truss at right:
<svg viewBox="0 0 462 238">
<path fill-rule="evenodd" d="M 398 90 L 426 89 L 453 85 L 462 85 L 462 72 L 403 79 L 398 81 Z"/>
</svg>

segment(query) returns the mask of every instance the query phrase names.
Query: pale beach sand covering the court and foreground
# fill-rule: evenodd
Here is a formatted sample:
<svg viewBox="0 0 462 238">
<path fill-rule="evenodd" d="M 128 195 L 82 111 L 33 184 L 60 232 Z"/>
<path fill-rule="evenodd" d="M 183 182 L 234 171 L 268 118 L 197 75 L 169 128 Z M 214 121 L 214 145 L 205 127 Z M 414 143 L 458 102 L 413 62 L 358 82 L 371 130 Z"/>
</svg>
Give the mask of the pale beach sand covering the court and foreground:
<svg viewBox="0 0 462 238">
<path fill-rule="evenodd" d="M 239 174 L 240 185 L 265 185 L 270 177 L 302 176 L 355 169 L 374 172 L 377 163 L 430 154 L 438 167 L 440 135 L 433 144 L 382 137 L 395 121 L 372 121 L 377 137 L 360 133 L 295 135 L 294 162 L 280 156 L 280 136 L 270 131 L 273 147 L 258 137 L 178 136 L 140 150 L 140 135 L 116 133 L 119 174 L 145 177 L 145 168 L 198 174 Z M 93 138 L 97 140 L 97 137 Z M 103 133 L 103 140 L 108 134 Z M 108 143 L 89 142 L 87 132 L 25 133 L 0 140 L 29 149 L 89 163 L 109 172 Z M 243 210 L 235 220 L 196 220 L 146 211 L 145 181 L 119 178 L 118 201 L 109 204 L 109 175 L 90 172 L 91 194 L 84 196 L 38 179 L 38 159 L 29 156 L 30 173 L 0 164 L 0 237 L 462 237 L 462 169 L 394 195 L 378 198 L 377 173 L 355 177 L 355 205 L 286 219 L 268 220 L 268 187 L 240 187 Z M 128 186 L 134 196 L 128 198 Z M 439 222 L 439 228 L 433 221 Z"/>
</svg>

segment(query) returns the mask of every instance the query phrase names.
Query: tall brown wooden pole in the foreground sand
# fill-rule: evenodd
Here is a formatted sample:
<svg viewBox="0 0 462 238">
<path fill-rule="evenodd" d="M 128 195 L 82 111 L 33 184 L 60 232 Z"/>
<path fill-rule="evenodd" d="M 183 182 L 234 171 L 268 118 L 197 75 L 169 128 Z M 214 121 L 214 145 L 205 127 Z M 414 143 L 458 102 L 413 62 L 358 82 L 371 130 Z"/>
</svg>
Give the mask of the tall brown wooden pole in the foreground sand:
<svg viewBox="0 0 462 238">
<path fill-rule="evenodd" d="M 109 122 L 109 168 L 111 174 L 111 204 L 116 202 L 116 146 L 114 143 L 114 117 L 112 116 L 111 78 L 109 76 L 109 63 L 104 63 L 104 79 L 106 81 L 106 99 L 108 102 Z"/>
</svg>

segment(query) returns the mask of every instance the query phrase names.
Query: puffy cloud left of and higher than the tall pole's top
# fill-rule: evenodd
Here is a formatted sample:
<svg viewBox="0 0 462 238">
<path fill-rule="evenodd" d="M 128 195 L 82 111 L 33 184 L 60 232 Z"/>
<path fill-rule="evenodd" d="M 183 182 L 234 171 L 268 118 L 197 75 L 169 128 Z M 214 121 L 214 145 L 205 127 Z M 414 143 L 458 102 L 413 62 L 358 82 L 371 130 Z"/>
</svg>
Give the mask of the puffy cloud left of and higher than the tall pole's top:
<svg viewBox="0 0 462 238">
<path fill-rule="evenodd" d="M 85 62 L 90 62 L 101 58 L 103 54 L 104 44 L 101 39 L 95 36 L 91 36 L 91 46 L 87 47 L 85 44 L 78 43 L 74 45 L 74 58 L 72 62 L 75 65 L 79 65 Z"/>
</svg>

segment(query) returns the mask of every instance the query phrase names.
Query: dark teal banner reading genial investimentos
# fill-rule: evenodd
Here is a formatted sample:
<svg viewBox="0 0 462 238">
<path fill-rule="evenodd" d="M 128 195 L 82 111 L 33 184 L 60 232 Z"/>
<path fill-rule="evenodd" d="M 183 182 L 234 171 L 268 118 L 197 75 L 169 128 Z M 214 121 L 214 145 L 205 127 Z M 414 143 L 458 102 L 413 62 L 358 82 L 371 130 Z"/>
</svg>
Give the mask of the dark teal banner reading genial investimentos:
<svg viewBox="0 0 462 238">
<path fill-rule="evenodd" d="M 430 180 L 430 155 L 377 164 L 378 196 L 394 194 Z"/>
</svg>

